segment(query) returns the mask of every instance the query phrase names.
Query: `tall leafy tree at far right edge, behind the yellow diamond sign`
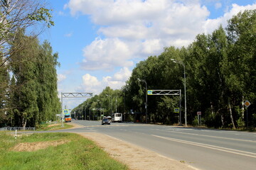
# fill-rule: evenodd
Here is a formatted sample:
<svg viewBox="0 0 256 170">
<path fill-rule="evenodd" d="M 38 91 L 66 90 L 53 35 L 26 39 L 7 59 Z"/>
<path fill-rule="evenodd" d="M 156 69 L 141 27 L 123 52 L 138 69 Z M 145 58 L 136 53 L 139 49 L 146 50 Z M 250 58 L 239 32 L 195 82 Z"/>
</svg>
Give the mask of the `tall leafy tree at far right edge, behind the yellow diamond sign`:
<svg viewBox="0 0 256 170">
<path fill-rule="evenodd" d="M 256 98 L 256 10 L 246 10 L 233 16 L 228 21 L 228 40 L 232 50 L 228 56 L 230 62 L 230 77 L 228 82 L 233 91 L 240 91 L 236 111 L 240 113 L 240 122 L 244 120 L 243 101 L 255 103 Z M 251 113 L 255 113 L 255 105 L 250 106 Z M 256 115 L 256 114 L 255 114 Z M 249 120 L 256 125 L 253 115 Z"/>
</svg>

